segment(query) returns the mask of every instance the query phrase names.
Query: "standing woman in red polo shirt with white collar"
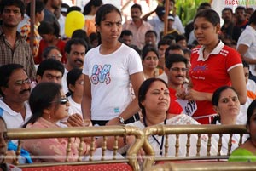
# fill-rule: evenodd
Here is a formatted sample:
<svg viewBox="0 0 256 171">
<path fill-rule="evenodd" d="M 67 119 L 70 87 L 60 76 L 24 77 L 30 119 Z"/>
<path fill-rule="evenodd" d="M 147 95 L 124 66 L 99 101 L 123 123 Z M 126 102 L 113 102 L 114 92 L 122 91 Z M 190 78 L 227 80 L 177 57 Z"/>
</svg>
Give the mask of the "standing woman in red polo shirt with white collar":
<svg viewBox="0 0 256 171">
<path fill-rule="evenodd" d="M 216 115 L 211 103 L 215 89 L 231 85 L 236 89 L 240 103 L 244 104 L 247 88 L 240 54 L 218 39 L 218 13 L 212 9 L 202 10 L 195 15 L 194 28 L 200 46 L 192 50 L 189 89 L 181 89 L 177 97 L 195 100 L 197 110 L 192 117 L 199 123 L 208 124 Z"/>
</svg>

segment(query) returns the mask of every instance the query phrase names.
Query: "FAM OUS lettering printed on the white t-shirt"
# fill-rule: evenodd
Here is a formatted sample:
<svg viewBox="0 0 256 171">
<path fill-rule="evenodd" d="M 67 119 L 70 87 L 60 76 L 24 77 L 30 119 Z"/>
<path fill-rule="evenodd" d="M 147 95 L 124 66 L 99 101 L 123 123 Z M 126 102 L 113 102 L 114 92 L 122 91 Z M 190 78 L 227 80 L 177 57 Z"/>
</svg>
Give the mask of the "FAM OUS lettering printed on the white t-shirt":
<svg viewBox="0 0 256 171">
<path fill-rule="evenodd" d="M 105 64 L 103 67 L 100 65 L 94 65 L 92 67 L 92 74 L 90 77 L 91 83 L 97 84 L 97 83 L 110 83 L 110 68 L 111 65 Z"/>
</svg>

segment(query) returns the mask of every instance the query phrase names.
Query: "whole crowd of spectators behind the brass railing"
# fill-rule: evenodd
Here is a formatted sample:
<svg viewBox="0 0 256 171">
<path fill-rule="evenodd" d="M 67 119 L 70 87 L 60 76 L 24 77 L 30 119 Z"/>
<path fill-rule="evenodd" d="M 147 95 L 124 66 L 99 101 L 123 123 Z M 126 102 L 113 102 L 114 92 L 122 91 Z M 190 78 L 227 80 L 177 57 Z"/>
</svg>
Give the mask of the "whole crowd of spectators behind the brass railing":
<svg viewBox="0 0 256 171">
<path fill-rule="evenodd" d="M 81 8 L 61 0 L 36 0 L 31 31 L 30 1 L 0 0 L 0 162 L 8 151 L 3 133 L 9 128 L 118 124 L 246 124 L 249 137 L 230 161 L 244 154 L 254 161 L 256 11 L 247 14 L 239 6 L 233 14 L 225 8 L 220 26 L 218 13 L 201 3 L 184 27 L 175 1 L 169 4 L 172 14 L 164 33 L 163 5 L 142 16 L 141 5 L 135 3 L 131 20 L 124 22 L 114 5 L 90 0 L 84 6 L 84 28 L 67 37 L 65 17 L 72 11 L 82 13 Z M 33 48 L 28 44 L 31 32 Z M 164 139 L 151 137 L 156 154 L 162 155 Z M 120 139 L 119 152 L 125 153 L 133 141 Z M 171 136 L 168 141 L 175 143 Z M 25 140 L 23 148 L 36 157 L 33 162 L 64 161 L 67 143 L 60 138 Z M 71 140 L 70 161 L 77 158 L 79 143 Z M 238 137 L 232 143 L 233 151 Z M 83 145 L 86 156 L 90 142 L 84 140 Z M 101 146 L 101 140 L 96 145 Z M 218 143 L 213 140 L 212 146 L 216 153 Z M 108 148 L 113 150 L 112 139 Z"/>
</svg>

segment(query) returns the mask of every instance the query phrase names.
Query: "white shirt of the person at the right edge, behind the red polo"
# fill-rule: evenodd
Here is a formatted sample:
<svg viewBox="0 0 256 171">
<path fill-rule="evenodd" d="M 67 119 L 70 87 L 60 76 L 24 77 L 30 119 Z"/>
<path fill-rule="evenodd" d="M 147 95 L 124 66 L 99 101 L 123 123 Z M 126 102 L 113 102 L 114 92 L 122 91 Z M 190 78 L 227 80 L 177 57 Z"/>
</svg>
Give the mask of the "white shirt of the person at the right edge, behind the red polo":
<svg viewBox="0 0 256 171">
<path fill-rule="evenodd" d="M 248 25 L 246 27 L 246 29 L 241 32 L 241 35 L 240 35 L 240 37 L 238 38 L 238 41 L 237 41 L 236 48 L 238 48 L 238 46 L 240 44 L 244 44 L 248 47 L 247 53 L 244 54 L 244 56 L 246 56 L 247 58 L 256 60 L 256 58 L 255 58 L 255 54 L 256 54 L 256 31 L 253 29 L 252 26 Z M 256 76 L 255 65 L 250 64 L 249 66 L 250 66 L 250 71 L 252 72 L 252 74 L 254 76 Z"/>
</svg>

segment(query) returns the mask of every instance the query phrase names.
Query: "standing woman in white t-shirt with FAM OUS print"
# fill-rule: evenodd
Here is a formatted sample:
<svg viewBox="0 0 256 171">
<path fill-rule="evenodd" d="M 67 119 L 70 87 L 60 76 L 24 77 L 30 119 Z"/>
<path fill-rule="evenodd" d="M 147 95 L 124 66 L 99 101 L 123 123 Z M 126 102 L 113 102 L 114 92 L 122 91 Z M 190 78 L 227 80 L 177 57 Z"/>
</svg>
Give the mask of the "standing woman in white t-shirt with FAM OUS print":
<svg viewBox="0 0 256 171">
<path fill-rule="evenodd" d="M 85 55 L 83 116 L 94 125 L 124 123 L 139 110 L 137 92 L 143 83 L 142 61 L 134 49 L 119 42 L 122 17 L 112 4 L 97 10 L 96 30 L 102 43 Z M 130 83 L 135 99 L 131 98 Z"/>
</svg>

